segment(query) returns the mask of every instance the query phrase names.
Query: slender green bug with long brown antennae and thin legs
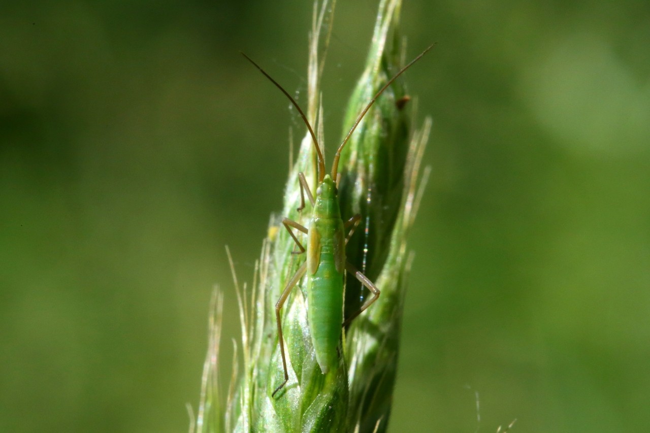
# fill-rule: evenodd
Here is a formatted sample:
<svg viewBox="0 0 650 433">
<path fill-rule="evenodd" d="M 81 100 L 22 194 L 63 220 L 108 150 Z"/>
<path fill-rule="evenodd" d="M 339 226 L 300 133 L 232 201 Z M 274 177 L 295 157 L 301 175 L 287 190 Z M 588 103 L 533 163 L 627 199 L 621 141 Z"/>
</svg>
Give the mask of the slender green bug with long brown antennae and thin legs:
<svg viewBox="0 0 650 433">
<path fill-rule="evenodd" d="M 380 296 L 380 290 L 367 278 L 363 273 L 346 260 L 345 246 L 348 240 L 354 233 L 356 226 L 361 221 L 361 215 L 357 214 L 349 220 L 343 221 L 341 211 L 339 209 L 339 199 L 337 191 L 337 183 L 339 183 L 339 159 L 341 158 L 341 151 L 345 144 L 348 142 L 352 133 L 357 128 L 363 116 L 369 111 L 370 107 L 374 104 L 377 98 L 390 86 L 393 81 L 397 79 L 404 71 L 410 68 L 417 60 L 421 59 L 432 46 L 422 51 L 422 53 L 411 60 L 404 68 L 399 70 L 387 83 L 370 99 L 365 109 L 357 117 L 356 122 L 350 128 L 350 131 L 341 142 L 338 150 L 336 151 L 331 167 L 331 173 L 327 174 L 325 169 L 324 157 L 318 140 L 313 131 L 313 128 L 307 120 L 304 112 L 298 106 L 295 99 L 275 81 L 268 73 L 265 72 L 257 63 L 250 57 L 242 53 L 253 66 L 255 66 L 266 78 L 268 78 L 281 92 L 291 101 L 292 105 L 296 108 L 311 135 L 314 143 L 315 151 L 318 159 L 318 187 L 315 196 L 312 194 L 307 179 L 301 172 L 298 174 L 298 183 L 300 185 L 300 198 L 301 203 L 298 211 L 302 211 L 305 207 L 305 194 L 313 207 L 313 213 L 309 226 L 305 227 L 296 221 L 289 218 L 283 218 L 282 224 L 285 226 L 292 239 L 296 243 L 300 254 L 306 252 L 307 259 L 296 273 L 291 277 L 278 302 L 276 303 L 276 321 L 278 324 L 278 342 L 280 347 L 280 354 L 282 357 L 282 366 L 284 369 L 284 380 L 276 387 L 271 397 L 275 397 L 276 393 L 289 381 L 289 373 L 287 371 L 287 358 L 284 348 L 284 339 L 282 335 L 282 320 L 280 311 L 284 305 L 287 297 L 292 289 L 302 280 L 303 276 L 307 274 L 307 321 L 309 323 L 309 334 L 311 334 L 311 342 L 313 344 L 316 360 L 320 371 L 327 374 L 330 369 L 333 369 L 337 363 L 338 345 L 341 340 L 342 328 L 349 324 L 359 314 L 377 300 Z M 346 234 L 345 231 L 348 230 Z M 294 230 L 300 231 L 307 235 L 307 247 L 296 237 Z M 343 294 L 344 294 L 344 277 L 345 272 L 348 271 L 354 275 L 363 286 L 365 286 L 371 293 L 372 297 L 367 299 L 361 308 L 354 314 L 350 315 L 343 321 Z"/>
</svg>

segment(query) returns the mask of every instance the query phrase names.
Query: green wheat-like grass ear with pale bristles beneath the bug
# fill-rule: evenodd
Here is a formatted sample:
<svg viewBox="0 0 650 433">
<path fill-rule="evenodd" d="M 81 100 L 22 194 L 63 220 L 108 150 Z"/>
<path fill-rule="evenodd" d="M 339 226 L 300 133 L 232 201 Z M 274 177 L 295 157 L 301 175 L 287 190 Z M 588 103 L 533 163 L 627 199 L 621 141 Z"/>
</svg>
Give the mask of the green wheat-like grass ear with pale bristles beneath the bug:
<svg viewBox="0 0 650 433">
<path fill-rule="evenodd" d="M 398 34 L 400 0 L 381 0 L 365 71 L 350 98 L 343 136 L 375 92 L 404 63 Z M 308 96 L 305 114 L 322 144 L 322 104 L 318 90 L 331 32 L 335 2 L 316 3 L 309 39 Z M 324 57 L 324 56 L 323 56 Z M 233 359 L 233 378 L 225 403 L 219 397 L 217 371 L 223 296 L 211 306 L 209 350 L 203 372 L 196 432 L 333 432 L 385 431 L 391 411 L 398 359 L 400 323 L 408 271 L 413 259 L 406 239 L 422 194 L 422 153 L 431 122 L 411 133 L 404 85 L 395 81 L 378 99 L 344 149 L 339 163 L 339 201 L 344 218 L 359 213 L 362 222 L 346 248 L 348 260 L 382 291 L 379 299 L 344 330 L 339 366 L 322 374 L 307 323 L 304 282 L 282 311 L 289 382 L 283 380 L 274 305 L 287 281 L 304 261 L 291 254 L 294 241 L 272 216 L 268 237 L 255 265 L 250 289 L 239 287 L 233 269 L 242 326 L 240 363 Z M 412 104 L 411 104 L 412 105 Z M 298 213 L 298 172 L 314 184 L 315 151 L 305 135 L 292 164 L 282 211 L 305 225 L 307 209 Z M 231 265 L 232 265 L 232 260 Z M 346 315 L 357 311 L 368 293 L 347 278 Z"/>
</svg>

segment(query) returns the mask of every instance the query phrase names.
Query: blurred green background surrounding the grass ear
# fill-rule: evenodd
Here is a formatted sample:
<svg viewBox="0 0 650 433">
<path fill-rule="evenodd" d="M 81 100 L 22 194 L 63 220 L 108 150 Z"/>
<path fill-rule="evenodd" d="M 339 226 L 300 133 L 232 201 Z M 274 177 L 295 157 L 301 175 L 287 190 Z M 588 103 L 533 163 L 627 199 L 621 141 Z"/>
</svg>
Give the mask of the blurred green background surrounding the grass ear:
<svg viewBox="0 0 650 433">
<path fill-rule="evenodd" d="M 337 5 L 330 157 L 376 6 Z M 0 5 L 1 432 L 187 430 L 215 283 L 226 363 L 239 337 L 224 245 L 250 281 L 304 132 L 238 51 L 304 101 L 311 10 Z M 437 47 L 406 74 L 433 172 L 391 430 L 647 431 L 650 3 L 407 0 L 402 28 Z"/>
</svg>

